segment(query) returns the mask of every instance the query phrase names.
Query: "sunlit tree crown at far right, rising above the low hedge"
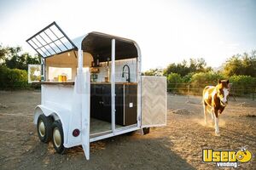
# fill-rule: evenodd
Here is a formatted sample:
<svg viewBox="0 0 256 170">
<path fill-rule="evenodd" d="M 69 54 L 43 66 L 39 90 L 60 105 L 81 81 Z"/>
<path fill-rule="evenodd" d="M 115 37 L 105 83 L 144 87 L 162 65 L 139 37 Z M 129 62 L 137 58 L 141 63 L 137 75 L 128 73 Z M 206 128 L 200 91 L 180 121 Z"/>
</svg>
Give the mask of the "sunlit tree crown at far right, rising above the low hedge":
<svg viewBox="0 0 256 170">
<path fill-rule="evenodd" d="M 247 75 L 256 77 L 256 51 L 251 54 L 236 54 L 224 63 L 224 75 Z"/>
</svg>

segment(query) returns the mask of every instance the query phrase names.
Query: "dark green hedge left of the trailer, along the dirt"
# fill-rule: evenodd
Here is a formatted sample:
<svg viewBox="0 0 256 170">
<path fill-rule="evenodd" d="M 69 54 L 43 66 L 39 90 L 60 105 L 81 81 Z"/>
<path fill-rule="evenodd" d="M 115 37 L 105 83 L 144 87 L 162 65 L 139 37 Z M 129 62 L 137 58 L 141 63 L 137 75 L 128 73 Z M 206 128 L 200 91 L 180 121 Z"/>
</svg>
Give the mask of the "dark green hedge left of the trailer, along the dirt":
<svg viewBox="0 0 256 170">
<path fill-rule="evenodd" d="M 9 69 L 0 65 L 0 89 L 25 89 L 28 87 L 27 71 Z"/>
</svg>

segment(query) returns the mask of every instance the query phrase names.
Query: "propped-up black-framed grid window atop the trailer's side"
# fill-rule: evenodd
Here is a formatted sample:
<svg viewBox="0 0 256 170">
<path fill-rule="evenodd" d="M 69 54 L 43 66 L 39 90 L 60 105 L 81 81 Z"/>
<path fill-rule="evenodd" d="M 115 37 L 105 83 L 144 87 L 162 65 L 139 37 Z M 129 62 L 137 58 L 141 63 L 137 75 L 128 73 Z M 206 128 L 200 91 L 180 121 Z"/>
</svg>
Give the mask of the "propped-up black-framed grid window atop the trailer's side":
<svg viewBox="0 0 256 170">
<path fill-rule="evenodd" d="M 26 40 L 41 57 L 78 49 L 55 22 Z"/>
</svg>

